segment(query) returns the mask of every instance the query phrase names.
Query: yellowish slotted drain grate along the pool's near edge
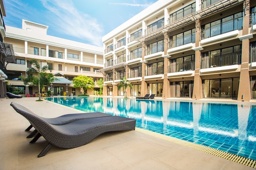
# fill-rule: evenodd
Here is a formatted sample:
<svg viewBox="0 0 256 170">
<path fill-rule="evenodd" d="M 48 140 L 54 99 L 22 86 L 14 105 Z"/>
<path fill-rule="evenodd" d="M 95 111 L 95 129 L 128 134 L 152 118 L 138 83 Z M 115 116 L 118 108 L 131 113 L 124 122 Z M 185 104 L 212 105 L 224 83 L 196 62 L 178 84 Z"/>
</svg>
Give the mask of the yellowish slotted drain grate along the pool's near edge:
<svg viewBox="0 0 256 170">
<path fill-rule="evenodd" d="M 144 129 L 137 128 L 137 127 L 135 128 L 135 130 L 138 131 L 138 132 L 145 133 L 145 134 L 150 135 L 150 136 L 158 137 L 160 139 L 164 139 L 166 141 L 173 142 L 175 144 L 186 146 L 186 147 L 189 147 L 189 148 L 192 148 L 192 149 L 195 149 L 195 150 L 199 150 L 199 151 L 202 151 L 202 152 L 206 152 L 206 153 L 209 153 L 211 155 L 215 155 L 215 156 L 218 156 L 218 157 L 221 157 L 221 158 L 225 158 L 225 159 L 228 159 L 230 161 L 234 161 L 234 162 L 237 162 L 237 163 L 240 163 L 240 164 L 252 167 L 252 168 L 256 168 L 256 160 L 253 160 L 253 159 L 249 159 L 249 158 L 246 158 L 246 157 L 235 155 L 235 154 L 225 152 L 225 151 L 222 151 L 222 150 L 218 150 L 218 149 L 215 149 L 215 148 L 211 148 L 211 147 L 208 147 L 208 146 L 195 144 L 195 143 L 192 143 L 192 142 L 189 142 L 189 141 L 184 141 L 182 139 L 169 137 L 169 136 L 157 133 L 157 132 L 152 132 L 150 130 L 144 130 Z"/>
</svg>

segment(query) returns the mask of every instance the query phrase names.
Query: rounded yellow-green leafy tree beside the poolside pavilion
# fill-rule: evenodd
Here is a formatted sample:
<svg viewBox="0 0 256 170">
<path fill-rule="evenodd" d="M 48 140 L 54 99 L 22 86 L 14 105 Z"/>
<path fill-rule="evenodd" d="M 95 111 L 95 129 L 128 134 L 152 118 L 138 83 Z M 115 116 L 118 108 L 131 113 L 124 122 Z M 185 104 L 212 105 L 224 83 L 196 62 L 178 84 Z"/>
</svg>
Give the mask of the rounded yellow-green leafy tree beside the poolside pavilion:
<svg viewBox="0 0 256 170">
<path fill-rule="evenodd" d="M 93 78 L 85 75 L 79 75 L 73 78 L 73 87 L 82 88 L 83 94 L 87 93 L 87 89 L 93 89 L 95 86 Z"/>
</svg>

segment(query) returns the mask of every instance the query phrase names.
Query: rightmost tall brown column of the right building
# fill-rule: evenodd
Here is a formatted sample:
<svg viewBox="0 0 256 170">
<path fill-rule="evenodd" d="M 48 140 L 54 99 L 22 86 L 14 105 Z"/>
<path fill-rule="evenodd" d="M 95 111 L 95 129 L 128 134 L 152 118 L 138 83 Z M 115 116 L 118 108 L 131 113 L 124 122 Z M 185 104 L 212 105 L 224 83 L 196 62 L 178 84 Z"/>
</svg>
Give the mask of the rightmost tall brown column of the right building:
<svg viewBox="0 0 256 170">
<path fill-rule="evenodd" d="M 244 4 L 244 17 L 243 17 L 243 35 L 249 34 L 249 22 L 250 22 L 250 0 L 245 0 Z M 248 36 L 249 37 L 249 36 Z M 250 87 L 250 75 L 249 75 L 249 38 L 242 40 L 242 63 L 240 70 L 240 80 L 238 89 L 238 101 L 249 102 L 251 99 L 251 87 Z"/>
</svg>

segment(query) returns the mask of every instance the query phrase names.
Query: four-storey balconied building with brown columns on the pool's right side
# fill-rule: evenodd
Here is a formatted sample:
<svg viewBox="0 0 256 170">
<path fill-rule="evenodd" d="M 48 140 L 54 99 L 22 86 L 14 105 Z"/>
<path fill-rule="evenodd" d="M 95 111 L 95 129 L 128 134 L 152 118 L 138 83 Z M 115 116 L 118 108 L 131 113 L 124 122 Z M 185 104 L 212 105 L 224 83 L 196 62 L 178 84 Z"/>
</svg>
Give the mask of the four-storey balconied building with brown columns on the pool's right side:
<svg viewBox="0 0 256 170">
<path fill-rule="evenodd" d="M 249 101 L 255 35 L 255 0 L 159 0 L 103 37 L 103 93 Z"/>
</svg>

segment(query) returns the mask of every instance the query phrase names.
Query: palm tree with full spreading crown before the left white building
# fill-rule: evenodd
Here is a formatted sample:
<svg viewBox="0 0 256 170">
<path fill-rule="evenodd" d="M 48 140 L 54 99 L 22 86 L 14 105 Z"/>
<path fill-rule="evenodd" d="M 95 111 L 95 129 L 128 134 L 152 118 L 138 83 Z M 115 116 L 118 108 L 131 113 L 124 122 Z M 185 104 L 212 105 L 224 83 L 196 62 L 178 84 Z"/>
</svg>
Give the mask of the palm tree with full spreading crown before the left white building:
<svg viewBox="0 0 256 170">
<path fill-rule="evenodd" d="M 27 77 L 21 77 L 24 81 L 24 84 L 38 86 L 39 91 L 39 101 L 41 100 L 40 90 L 43 86 L 49 86 L 50 82 L 54 81 L 52 74 L 46 73 L 46 71 L 52 71 L 48 65 L 41 68 L 40 64 L 35 60 L 30 60 L 31 68 L 27 68 Z M 41 86 L 40 86 L 41 85 Z"/>
</svg>

